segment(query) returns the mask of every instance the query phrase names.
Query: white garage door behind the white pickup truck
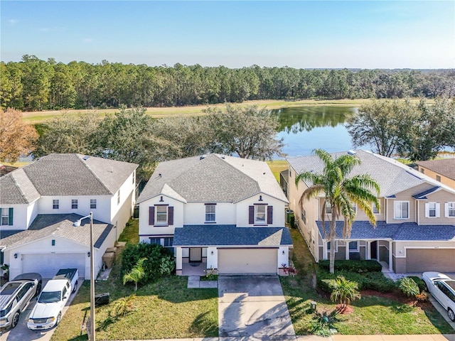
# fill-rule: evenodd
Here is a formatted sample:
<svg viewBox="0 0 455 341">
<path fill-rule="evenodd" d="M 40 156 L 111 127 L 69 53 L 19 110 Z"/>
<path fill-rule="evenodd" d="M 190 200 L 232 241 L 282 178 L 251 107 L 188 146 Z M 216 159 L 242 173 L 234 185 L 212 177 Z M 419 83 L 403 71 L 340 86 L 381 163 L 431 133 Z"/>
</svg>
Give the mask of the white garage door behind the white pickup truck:
<svg viewBox="0 0 455 341">
<path fill-rule="evenodd" d="M 38 272 L 43 278 L 52 278 L 59 269 L 77 268 L 85 277 L 87 254 L 22 254 L 22 272 Z"/>
</svg>

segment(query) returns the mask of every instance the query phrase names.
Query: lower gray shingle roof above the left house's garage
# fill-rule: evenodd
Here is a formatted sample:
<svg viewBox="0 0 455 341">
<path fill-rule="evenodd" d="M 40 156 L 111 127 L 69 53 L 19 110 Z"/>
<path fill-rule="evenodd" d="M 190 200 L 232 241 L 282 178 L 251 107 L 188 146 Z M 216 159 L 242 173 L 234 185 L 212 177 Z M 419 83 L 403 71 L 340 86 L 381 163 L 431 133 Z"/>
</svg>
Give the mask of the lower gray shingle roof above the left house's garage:
<svg viewBox="0 0 455 341">
<path fill-rule="evenodd" d="M 73 242 L 90 246 L 90 220 L 82 220 L 80 227 L 73 227 L 73 222 L 82 215 L 38 215 L 31 226 L 23 231 L 2 230 L 0 247 L 11 249 L 22 244 L 28 244 L 51 235 L 63 237 Z M 99 249 L 107 235 L 112 230 L 112 224 L 93 220 L 93 239 L 95 248 Z"/>
</svg>

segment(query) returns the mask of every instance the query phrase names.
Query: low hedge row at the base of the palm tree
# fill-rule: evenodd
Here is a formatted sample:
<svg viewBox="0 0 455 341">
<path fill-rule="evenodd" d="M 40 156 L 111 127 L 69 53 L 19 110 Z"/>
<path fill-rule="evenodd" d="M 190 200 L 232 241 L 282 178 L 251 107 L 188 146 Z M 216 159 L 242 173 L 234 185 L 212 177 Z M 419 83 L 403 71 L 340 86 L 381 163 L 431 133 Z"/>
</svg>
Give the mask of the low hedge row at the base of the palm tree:
<svg viewBox="0 0 455 341">
<path fill-rule="evenodd" d="M 319 270 L 316 276 L 318 287 L 322 291 L 331 293 L 333 291 L 333 283 L 337 276 L 344 276 L 349 281 L 354 281 L 358 284 L 358 290 L 371 289 L 380 291 L 381 293 L 387 293 L 394 291 L 397 288 L 397 284 L 392 279 L 387 278 L 382 272 L 368 272 L 365 274 L 359 274 L 351 271 L 336 271 L 335 274 L 331 274 L 328 271 Z"/>
</svg>

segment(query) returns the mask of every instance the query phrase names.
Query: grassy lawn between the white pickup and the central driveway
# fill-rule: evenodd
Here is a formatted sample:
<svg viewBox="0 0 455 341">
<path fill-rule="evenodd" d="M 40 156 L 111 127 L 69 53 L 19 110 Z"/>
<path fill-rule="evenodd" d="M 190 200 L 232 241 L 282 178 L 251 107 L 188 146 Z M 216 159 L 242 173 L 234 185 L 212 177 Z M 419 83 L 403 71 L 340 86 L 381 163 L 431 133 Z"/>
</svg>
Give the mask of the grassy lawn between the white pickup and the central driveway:
<svg viewBox="0 0 455 341">
<path fill-rule="evenodd" d="M 132 235 L 125 228 L 120 239 Z M 98 340 L 148 340 L 181 337 L 218 337 L 218 289 L 188 289 L 186 276 L 169 276 L 156 283 L 123 286 L 117 260 L 107 281 L 97 281 L 96 293 L 110 293 L 109 305 L 96 308 L 95 320 Z M 134 311 L 109 319 L 112 303 L 132 293 Z M 90 282 L 84 281 L 77 296 L 55 329 L 51 340 L 87 340 L 87 332 L 80 326 L 90 316 Z"/>
</svg>

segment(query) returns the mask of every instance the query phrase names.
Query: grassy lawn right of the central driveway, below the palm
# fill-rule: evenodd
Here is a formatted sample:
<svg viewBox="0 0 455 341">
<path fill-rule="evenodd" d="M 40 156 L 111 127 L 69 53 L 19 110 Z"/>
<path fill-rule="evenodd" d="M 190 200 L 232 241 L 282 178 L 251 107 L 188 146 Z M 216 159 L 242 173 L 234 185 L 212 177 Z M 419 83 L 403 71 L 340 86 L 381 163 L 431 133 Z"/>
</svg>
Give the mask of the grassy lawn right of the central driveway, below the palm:
<svg viewBox="0 0 455 341">
<path fill-rule="evenodd" d="M 310 333 L 311 301 L 316 301 L 319 311 L 335 309 L 328 298 L 321 296 L 311 286 L 316 264 L 296 229 L 291 229 L 294 251 L 292 259 L 299 274 L 295 278 L 280 278 L 287 300 L 291 320 L 297 335 Z M 338 315 L 336 329 L 343 335 L 373 334 L 444 334 L 454 332 L 432 306 L 422 310 L 405 303 L 377 296 L 363 296 L 352 303 L 353 313 Z"/>
</svg>

